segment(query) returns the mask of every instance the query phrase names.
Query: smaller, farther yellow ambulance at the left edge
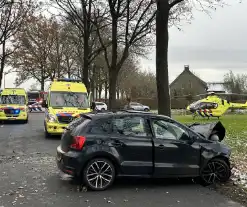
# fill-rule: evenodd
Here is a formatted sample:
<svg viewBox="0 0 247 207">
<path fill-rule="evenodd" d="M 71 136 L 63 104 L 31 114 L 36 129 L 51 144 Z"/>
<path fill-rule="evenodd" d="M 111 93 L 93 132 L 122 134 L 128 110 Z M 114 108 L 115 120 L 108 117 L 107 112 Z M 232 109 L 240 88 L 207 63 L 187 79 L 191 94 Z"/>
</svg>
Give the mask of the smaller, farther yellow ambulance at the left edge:
<svg viewBox="0 0 247 207">
<path fill-rule="evenodd" d="M 5 88 L 0 95 L 0 121 L 28 122 L 28 98 L 24 88 Z"/>
</svg>

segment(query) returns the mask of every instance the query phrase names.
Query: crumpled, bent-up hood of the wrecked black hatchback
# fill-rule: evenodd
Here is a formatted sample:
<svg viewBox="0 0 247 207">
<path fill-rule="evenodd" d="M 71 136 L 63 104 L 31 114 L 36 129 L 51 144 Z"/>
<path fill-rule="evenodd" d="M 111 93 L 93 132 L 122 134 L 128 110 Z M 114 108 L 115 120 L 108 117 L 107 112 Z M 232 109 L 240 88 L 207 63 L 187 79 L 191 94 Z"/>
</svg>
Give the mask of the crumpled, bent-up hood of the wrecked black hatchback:
<svg viewBox="0 0 247 207">
<path fill-rule="evenodd" d="M 220 121 L 205 124 L 194 123 L 188 125 L 188 127 L 206 139 L 210 139 L 213 135 L 217 135 L 220 142 L 226 135 L 226 129 Z"/>
</svg>

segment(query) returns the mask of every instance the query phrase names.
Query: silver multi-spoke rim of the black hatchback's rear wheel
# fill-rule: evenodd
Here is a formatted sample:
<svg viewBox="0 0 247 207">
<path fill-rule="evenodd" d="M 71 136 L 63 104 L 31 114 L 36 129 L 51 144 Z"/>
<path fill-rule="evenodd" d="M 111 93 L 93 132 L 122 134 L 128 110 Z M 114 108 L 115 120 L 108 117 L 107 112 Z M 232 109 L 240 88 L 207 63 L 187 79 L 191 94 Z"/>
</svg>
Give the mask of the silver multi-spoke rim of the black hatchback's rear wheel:
<svg viewBox="0 0 247 207">
<path fill-rule="evenodd" d="M 87 170 L 88 183 L 96 188 L 102 189 L 107 187 L 113 179 L 113 169 L 111 165 L 105 161 L 93 162 Z"/>
</svg>

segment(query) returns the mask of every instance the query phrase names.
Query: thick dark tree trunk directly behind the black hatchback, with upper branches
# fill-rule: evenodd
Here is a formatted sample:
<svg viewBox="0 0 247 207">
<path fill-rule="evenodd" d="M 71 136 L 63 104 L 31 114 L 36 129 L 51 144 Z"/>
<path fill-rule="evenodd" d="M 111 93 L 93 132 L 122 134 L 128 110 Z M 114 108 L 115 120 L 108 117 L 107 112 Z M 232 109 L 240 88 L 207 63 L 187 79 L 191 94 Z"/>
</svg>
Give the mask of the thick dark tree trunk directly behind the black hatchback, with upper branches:
<svg viewBox="0 0 247 207">
<path fill-rule="evenodd" d="M 191 13 L 192 8 L 209 14 L 210 9 L 215 9 L 216 6 L 223 6 L 224 4 L 223 0 L 156 0 L 156 4 L 156 82 L 158 91 L 158 113 L 171 116 L 167 57 L 170 15 L 173 14 L 173 17 L 180 19 L 184 17 L 184 12 Z"/>
</svg>

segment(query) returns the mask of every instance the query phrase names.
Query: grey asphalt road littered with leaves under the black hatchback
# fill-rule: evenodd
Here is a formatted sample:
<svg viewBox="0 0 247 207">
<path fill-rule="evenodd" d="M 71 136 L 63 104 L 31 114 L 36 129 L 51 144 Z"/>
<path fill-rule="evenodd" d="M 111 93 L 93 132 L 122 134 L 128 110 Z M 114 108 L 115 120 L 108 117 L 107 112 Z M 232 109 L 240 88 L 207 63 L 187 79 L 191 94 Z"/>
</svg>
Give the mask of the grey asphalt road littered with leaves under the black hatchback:
<svg viewBox="0 0 247 207">
<path fill-rule="evenodd" d="M 0 207 L 240 207 L 213 190 L 178 180 L 118 180 L 104 192 L 79 191 L 55 163 L 60 138 L 45 139 L 44 114 L 0 123 Z"/>
</svg>

